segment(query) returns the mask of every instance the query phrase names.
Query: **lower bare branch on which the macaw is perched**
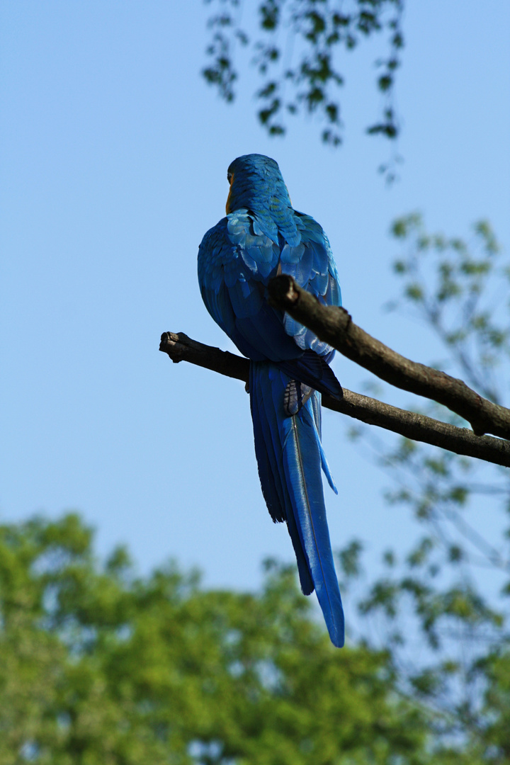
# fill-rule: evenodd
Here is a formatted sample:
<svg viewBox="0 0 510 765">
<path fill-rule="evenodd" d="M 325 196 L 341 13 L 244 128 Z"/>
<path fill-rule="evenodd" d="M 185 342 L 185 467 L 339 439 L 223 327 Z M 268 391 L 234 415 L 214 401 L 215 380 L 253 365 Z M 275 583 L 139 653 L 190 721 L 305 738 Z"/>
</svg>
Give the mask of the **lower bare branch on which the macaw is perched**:
<svg viewBox="0 0 510 765">
<path fill-rule="evenodd" d="M 167 353 L 174 363 L 187 361 L 228 377 L 248 382 L 249 360 L 234 353 L 219 350 L 187 337 L 184 332 L 164 332 L 159 350 Z M 476 436 L 469 428 L 456 428 L 425 415 L 385 404 L 369 396 L 360 396 L 343 389 L 343 399 L 323 396 L 323 406 L 343 415 L 399 433 L 414 441 L 424 441 L 456 454 L 477 457 L 486 462 L 510 467 L 510 442 L 492 436 Z"/>
</svg>

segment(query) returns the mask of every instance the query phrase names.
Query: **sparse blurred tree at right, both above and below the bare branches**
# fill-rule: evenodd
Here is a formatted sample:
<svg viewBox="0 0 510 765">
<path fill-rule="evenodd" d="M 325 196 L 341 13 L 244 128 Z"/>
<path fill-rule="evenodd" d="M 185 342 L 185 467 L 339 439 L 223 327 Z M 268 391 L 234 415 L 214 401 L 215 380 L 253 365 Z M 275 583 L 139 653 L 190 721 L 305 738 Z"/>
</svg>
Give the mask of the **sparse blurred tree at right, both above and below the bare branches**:
<svg viewBox="0 0 510 765">
<path fill-rule="evenodd" d="M 439 340 L 444 355 L 433 366 L 508 402 L 510 269 L 489 224 L 460 239 L 427 233 L 414 213 L 391 233 L 402 250 L 394 264 L 402 297 L 389 308 L 404 308 Z M 432 402 L 419 408 L 465 425 Z M 385 553 L 385 574 L 359 602 L 360 633 L 388 650 L 401 692 L 433 712 L 438 761 L 455 751 L 463 763 L 508 763 L 508 471 L 407 439 L 388 448 L 367 428 L 363 435 L 394 480 L 388 502 L 408 508 L 424 533 L 402 560 Z M 502 598 L 479 583 L 487 569 Z"/>
</svg>

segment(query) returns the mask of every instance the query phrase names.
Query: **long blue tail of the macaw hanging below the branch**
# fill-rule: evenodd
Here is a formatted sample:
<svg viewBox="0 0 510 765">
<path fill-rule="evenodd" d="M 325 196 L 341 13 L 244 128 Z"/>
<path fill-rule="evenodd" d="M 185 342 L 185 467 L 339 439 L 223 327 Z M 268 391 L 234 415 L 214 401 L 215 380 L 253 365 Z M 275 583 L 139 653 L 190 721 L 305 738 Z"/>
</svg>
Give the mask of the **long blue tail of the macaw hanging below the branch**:
<svg viewBox="0 0 510 765">
<path fill-rule="evenodd" d="M 312 392 L 297 414 L 284 409 L 290 378 L 268 362 L 250 364 L 250 403 L 262 493 L 274 522 L 286 521 L 297 558 L 301 589 L 317 592 L 335 646 L 343 646 L 344 621 L 322 476 L 336 491 L 320 444 L 320 393 Z"/>
</svg>

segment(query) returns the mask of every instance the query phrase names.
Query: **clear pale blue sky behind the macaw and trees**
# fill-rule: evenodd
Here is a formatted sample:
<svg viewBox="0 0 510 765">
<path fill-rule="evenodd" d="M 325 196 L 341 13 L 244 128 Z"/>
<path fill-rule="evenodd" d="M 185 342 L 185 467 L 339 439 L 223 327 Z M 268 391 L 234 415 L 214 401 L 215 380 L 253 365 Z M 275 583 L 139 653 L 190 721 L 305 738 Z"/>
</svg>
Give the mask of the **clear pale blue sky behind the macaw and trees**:
<svg viewBox="0 0 510 765">
<path fill-rule="evenodd" d="M 312 119 L 268 138 L 245 68 L 236 103 L 219 101 L 200 77 L 198 0 L 0 2 L 3 520 L 78 509 L 100 554 L 125 542 L 142 571 L 174 556 L 213 586 L 255 587 L 262 558 L 292 559 L 261 497 L 243 386 L 172 365 L 159 337 L 184 330 L 232 350 L 203 307 L 197 247 L 224 214 L 230 161 L 258 151 L 330 236 L 355 321 L 434 357 L 423 327 L 382 311 L 398 291 L 388 229 L 420 210 L 430 229 L 466 236 L 486 217 L 508 249 L 510 6 L 408 6 L 405 162 L 388 189 L 376 172 L 388 145 L 363 132 L 377 44 L 346 55 L 346 140 L 332 151 Z M 360 389 L 361 369 L 334 365 Z M 336 548 L 361 537 L 375 562 L 414 526 L 383 502 L 388 479 L 346 440 L 349 425 L 324 416 L 331 536 Z"/>
</svg>

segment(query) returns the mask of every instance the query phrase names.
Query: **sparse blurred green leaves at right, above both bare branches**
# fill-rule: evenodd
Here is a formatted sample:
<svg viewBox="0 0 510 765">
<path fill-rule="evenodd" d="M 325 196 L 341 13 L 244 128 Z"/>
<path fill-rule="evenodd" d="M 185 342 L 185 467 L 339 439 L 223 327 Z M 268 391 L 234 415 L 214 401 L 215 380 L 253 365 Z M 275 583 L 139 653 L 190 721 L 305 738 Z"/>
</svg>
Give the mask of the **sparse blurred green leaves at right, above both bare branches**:
<svg viewBox="0 0 510 765">
<path fill-rule="evenodd" d="M 468 384 L 499 402 L 499 389 L 508 390 L 508 381 L 495 378 L 510 358 L 508 265 L 500 263 L 489 223 L 476 223 L 464 240 L 427 234 L 413 213 L 395 221 L 391 233 L 407 248 L 394 264 L 404 298 L 446 347 L 446 366 L 456 365 Z"/>
</svg>

